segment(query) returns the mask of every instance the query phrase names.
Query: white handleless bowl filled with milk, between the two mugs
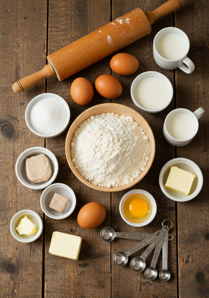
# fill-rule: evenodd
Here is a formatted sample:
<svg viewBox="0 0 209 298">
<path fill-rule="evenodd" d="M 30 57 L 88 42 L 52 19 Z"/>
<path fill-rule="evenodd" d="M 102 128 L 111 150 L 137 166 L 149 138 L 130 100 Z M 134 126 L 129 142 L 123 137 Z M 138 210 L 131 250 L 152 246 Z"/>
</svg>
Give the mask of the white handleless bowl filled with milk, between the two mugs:
<svg viewBox="0 0 209 298">
<path fill-rule="evenodd" d="M 157 113 L 170 104 L 173 86 L 168 78 L 159 72 L 143 72 L 133 80 L 131 98 L 140 110 Z"/>
</svg>

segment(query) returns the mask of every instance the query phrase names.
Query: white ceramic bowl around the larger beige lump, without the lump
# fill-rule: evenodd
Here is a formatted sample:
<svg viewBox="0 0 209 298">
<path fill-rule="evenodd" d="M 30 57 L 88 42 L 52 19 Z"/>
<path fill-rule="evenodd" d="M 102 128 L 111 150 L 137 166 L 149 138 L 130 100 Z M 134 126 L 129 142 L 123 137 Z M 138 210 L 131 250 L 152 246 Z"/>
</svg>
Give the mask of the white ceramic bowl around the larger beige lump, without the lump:
<svg viewBox="0 0 209 298">
<path fill-rule="evenodd" d="M 39 154 L 44 154 L 48 157 L 51 169 L 52 169 L 52 176 L 51 178 L 46 182 L 41 183 L 33 183 L 31 182 L 26 175 L 26 169 L 25 169 L 25 162 L 26 159 L 31 156 L 36 156 Z M 18 180 L 26 187 L 31 189 L 43 189 L 49 186 L 54 182 L 54 180 L 57 177 L 58 174 L 58 161 L 56 159 L 56 156 L 48 149 L 43 147 L 32 147 L 28 148 L 25 151 L 23 151 L 20 156 L 18 157 L 15 165 L 15 172 L 17 175 Z"/>
</svg>

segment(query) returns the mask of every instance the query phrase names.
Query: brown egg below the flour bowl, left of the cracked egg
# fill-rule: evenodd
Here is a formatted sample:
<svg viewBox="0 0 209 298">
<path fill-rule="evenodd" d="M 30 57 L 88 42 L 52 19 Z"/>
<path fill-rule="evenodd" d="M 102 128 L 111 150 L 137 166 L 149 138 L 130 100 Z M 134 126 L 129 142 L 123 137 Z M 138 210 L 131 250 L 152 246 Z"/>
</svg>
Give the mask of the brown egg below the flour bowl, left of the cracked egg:
<svg viewBox="0 0 209 298">
<path fill-rule="evenodd" d="M 84 205 L 78 214 L 78 224 L 84 229 L 93 229 L 102 224 L 105 219 L 105 207 L 98 202 Z"/>
</svg>

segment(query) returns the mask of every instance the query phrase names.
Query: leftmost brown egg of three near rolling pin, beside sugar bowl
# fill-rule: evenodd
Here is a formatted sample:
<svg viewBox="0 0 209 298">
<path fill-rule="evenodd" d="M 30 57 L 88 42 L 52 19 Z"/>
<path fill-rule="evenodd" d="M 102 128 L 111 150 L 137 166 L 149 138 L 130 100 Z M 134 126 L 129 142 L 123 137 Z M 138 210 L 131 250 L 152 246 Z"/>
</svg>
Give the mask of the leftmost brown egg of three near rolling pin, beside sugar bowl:
<svg viewBox="0 0 209 298">
<path fill-rule="evenodd" d="M 78 105 L 87 105 L 92 100 L 94 91 L 87 79 L 78 77 L 70 87 L 70 94 L 74 102 Z"/>
</svg>

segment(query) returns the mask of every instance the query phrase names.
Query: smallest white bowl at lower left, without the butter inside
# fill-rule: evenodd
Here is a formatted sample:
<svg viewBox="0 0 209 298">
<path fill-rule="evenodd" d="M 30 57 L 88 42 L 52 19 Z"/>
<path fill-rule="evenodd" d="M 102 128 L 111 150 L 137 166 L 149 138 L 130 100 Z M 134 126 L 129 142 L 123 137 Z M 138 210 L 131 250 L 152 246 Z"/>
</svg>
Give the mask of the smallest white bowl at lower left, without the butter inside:
<svg viewBox="0 0 209 298">
<path fill-rule="evenodd" d="M 27 215 L 27 217 L 30 218 L 33 221 L 33 223 L 36 225 L 36 233 L 31 236 L 20 235 L 19 232 L 16 230 L 16 227 L 18 227 L 18 224 L 21 221 L 21 218 L 25 217 L 25 215 Z M 42 219 L 36 212 L 32 210 L 21 210 L 13 216 L 10 222 L 10 231 L 13 237 L 19 242 L 24 242 L 24 243 L 33 242 L 37 240 L 43 232 Z"/>
</svg>

